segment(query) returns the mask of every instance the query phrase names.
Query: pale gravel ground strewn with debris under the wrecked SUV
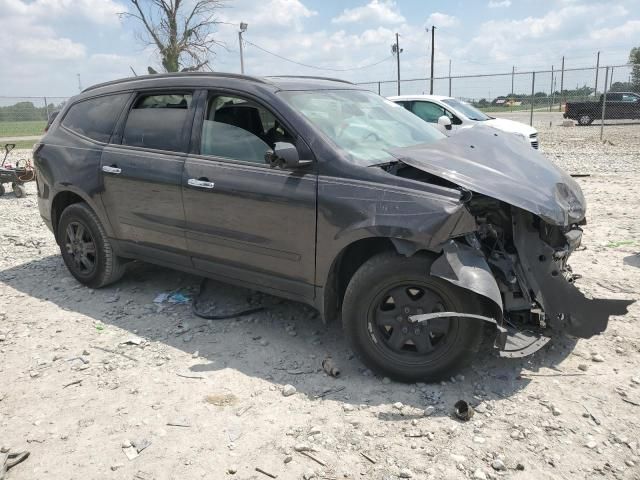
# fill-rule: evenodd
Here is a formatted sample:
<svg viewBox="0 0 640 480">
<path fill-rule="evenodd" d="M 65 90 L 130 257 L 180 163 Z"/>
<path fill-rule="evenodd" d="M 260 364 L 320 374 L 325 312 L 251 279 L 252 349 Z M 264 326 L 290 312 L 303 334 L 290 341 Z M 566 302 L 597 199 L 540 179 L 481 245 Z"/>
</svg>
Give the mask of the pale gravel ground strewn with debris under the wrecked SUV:
<svg viewBox="0 0 640 480">
<path fill-rule="evenodd" d="M 593 128 L 540 137 L 554 161 L 593 174 L 579 179 L 579 285 L 637 299 L 640 139 L 615 129 L 613 145 Z M 638 303 L 590 340 L 520 360 L 487 347 L 450 381 L 398 384 L 305 306 L 269 298 L 207 322 L 154 303 L 194 294 L 198 278 L 143 264 L 80 286 L 28 192 L 0 198 L 0 446 L 31 452 L 10 480 L 640 478 Z M 328 355 L 340 378 L 322 371 Z M 475 405 L 469 422 L 452 418 L 460 399 Z"/>
</svg>

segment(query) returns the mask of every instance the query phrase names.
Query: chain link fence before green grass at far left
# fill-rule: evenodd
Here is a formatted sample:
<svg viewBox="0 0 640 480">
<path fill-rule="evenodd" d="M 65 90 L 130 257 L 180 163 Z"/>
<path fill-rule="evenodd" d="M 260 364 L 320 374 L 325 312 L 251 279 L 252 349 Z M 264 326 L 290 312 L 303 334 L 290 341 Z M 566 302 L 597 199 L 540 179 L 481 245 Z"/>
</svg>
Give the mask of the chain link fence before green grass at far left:
<svg viewBox="0 0 640 480">
<path fill-rule="evenodd" d="M 49 115 L 66 101 L 65 97 L 0 97 L 0 143 L 30 148 L 44 133 Z"/>
</svg>

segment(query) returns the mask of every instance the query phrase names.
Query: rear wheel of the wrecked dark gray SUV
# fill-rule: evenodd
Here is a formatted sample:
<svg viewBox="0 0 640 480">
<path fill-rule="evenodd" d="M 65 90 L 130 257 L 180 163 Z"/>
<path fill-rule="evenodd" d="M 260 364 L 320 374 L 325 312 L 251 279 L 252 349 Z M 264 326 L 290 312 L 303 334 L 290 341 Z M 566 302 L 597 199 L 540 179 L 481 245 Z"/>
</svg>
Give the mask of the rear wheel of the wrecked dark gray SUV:
<svg viewBox="0 0 640 480">
<path fill-rule="evenodd" d="M 57 237 L 64 263 L 80 283 L 100 288 L 124 274 L 124 262 L 115 255 L 98 216 L 86 203 L 64 209 Z"/>
</svg>

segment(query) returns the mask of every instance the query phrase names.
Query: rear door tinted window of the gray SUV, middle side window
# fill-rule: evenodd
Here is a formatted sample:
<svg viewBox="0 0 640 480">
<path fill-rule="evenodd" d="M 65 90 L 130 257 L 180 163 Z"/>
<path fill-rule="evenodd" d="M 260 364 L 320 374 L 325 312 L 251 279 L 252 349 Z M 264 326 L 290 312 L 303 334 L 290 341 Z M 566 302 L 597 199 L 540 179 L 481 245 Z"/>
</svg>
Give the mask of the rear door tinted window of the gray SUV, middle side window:
<svg viewBox="0 0 640 480">
<path fill-rule="evenodd" d="M 138 98 L 127 117 L 122 144 L 185 151 L 182 135 L 191 109 L 191 94 L 154 94 Z"/>
</svg>

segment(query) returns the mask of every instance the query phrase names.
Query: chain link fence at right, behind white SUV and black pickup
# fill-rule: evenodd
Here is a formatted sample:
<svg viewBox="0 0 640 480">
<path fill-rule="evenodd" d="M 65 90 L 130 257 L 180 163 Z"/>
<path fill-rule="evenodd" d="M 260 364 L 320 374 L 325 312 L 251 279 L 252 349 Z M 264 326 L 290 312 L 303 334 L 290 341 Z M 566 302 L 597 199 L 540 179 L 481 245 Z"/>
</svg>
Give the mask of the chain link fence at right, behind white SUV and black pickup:
<svg viewBox="0 0 640 480">
<path fill-rule="evenodd" d="M 640 66 L 552 67 L 530 72 L 514 68 L 503 74 L 437 77 L 433 94 L 459 98 L 490 116 L 540 130 L 579 125 L 591 127 L 581 132 L 585 138 L 606 141 L 609 131 L 616 138 L 635 140 L 640 136 L 640 87 L 632 83 L 634 68 Z M 395 80 L 360 85 L 385 97 L 431 91 L 427 78 L 401 80 L 399 85 Z"/>
</svg>

